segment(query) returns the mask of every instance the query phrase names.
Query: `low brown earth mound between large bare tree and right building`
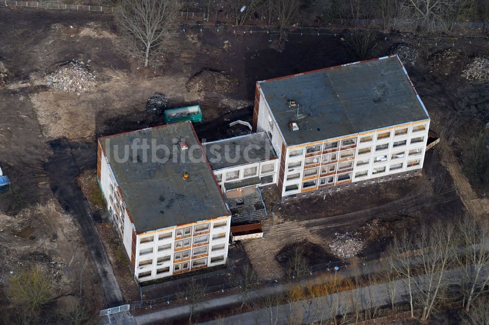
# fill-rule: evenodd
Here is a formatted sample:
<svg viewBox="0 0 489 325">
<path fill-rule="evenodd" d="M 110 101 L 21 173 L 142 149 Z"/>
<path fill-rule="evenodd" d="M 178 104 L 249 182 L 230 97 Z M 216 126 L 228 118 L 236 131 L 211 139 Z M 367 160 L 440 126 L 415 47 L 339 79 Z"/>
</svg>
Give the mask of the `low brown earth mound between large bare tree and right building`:
<svg viewBox="0 0 489 325">
<path fill-rule="evenodd" d="M 233 92 L 238 85 L 236 78 L 231 78 L 223 71 L 204 69 L 192 77 L 187 83 L 190 92 L 211 91 L 215 93 Z"/>
</svg>

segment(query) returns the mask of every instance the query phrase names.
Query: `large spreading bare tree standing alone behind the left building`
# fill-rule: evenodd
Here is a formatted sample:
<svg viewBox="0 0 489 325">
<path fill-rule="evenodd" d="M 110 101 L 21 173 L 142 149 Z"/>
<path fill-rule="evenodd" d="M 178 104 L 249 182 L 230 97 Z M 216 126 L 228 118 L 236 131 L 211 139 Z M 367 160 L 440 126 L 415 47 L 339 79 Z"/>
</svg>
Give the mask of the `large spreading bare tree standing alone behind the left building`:
<svg viewBox="0 0 489 325">
<path fill-rule="evenodd" d="M 173 20 L 180 8 L 178 0 L 120 0 L 114 19 L 122 33 L 121 51 L 144 58 L 160 55 L 172 34 Z"/>
</svg>

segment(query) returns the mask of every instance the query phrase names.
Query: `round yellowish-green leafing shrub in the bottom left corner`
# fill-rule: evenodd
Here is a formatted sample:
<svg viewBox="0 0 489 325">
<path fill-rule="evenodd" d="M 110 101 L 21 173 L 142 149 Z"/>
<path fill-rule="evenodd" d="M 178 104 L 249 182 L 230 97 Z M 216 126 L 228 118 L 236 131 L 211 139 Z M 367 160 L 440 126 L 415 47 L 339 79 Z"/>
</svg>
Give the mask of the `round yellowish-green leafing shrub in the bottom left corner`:
<svg viewBox="0 0 489 325">
<path fill-rule="evenodd" d="M 8 296 L 15 305 L 36 313 L 53 299 L 53 280 L 39 267 L 22 269 L 10 278 Z"/>
</svg>

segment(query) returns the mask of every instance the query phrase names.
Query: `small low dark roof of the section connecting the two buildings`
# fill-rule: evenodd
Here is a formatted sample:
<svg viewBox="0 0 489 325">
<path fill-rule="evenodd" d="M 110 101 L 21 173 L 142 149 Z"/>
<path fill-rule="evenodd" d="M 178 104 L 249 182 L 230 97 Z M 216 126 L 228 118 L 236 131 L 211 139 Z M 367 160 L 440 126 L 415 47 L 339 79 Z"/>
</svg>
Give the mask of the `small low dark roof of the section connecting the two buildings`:
<svg viewBox="0 0 489 325">
<path fill-rule="evenodd" d="M 202 146 L 213 170 L 277 158 L 265 132 L 204 142 Z"/>
</svg>

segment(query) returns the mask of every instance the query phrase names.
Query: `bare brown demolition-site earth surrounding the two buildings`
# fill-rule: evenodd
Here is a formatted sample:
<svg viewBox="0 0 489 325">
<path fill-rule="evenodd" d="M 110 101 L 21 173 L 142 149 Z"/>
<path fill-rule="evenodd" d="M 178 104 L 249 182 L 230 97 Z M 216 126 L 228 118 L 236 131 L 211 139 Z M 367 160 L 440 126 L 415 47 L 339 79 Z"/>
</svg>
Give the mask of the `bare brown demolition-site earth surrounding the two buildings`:
<svg viewBox="0 0 489 325">
<path fill-rule="evenodd" d="M 0 288 L 11 271 L 55 261 L 52 272 L 66 277 L 60 281 L 64 295 L 79 290 L 74 279 L 81 270 L 94 303 L 102 306 L 132 303 L 139 292 L 97 193 L 97 137 L 163 124 L 162 116 L 145 111 L 146 99 L 160 92 L 170 108 L 200 104 L 203 122 L 195 128 L 202 140 L 226 138 L 228 123 L 251 122 L 256 81 L 355 61 L 340 36 L 289 35 L 278 52 L 265 33 L 207 31 L 175 35 L 154 73 L 153 66 L 136 69 L 137 62 L 115 52 L 110 15 L 0 8 L 0 21 L 0 61 L 8 70 L 0 87 L 0 165 L 12 182 L 12 191 L 0 197 L 0 248 L 9 256 L 0 261 Z M 393 44 L 380 40 L 371 57 L 388 54 Z M 416 47 L 416 65 L 406 66 L 430 114 L 430 129 L 441 137 L 427 152 L 422 175 L 282 204 L 266 192 L 264 239 L 233 245 L 233 264 L 249 260 L 260 280 L 279 279 L 297 246 L 310 266 L 340 261 L 332 247 L 348 233 L 357 255 L 368 257 L 400 231 L 487 214 L 489 199 L 472 189 L 459 157 L 467 129 L 489 121 L 487 82 L 461 77 L 462 63 L 488 48 L 465 44 L 457 49 L 457 65 L 433 56 L 446 47 Z M 46 76 L 70 60 L 89 64 L 93 84 L 81 92 L 52 89 Z M 451 69 L 442 71 L 446 66 Z M 28 225 L 35 229 L 26 230 Z M 151 297 L 175 290 L 152 290 Z"/>
</svg>

